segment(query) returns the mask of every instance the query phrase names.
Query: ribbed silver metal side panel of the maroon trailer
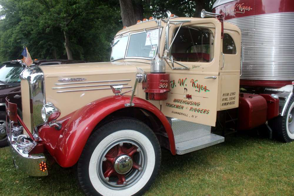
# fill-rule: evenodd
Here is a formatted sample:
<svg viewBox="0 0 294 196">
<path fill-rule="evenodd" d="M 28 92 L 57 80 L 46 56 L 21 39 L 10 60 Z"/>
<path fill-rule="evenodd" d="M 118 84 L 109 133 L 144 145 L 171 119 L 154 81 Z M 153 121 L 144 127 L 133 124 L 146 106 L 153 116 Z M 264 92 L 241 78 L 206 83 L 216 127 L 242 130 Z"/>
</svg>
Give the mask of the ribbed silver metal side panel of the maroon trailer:
<svg viewBox="0 0 294 196">
<path fill-rule="evenodd" d="M 243 42 L 240 79 L 294 80 L 294 12 L 226 20 L 239 27 Z"/>
</svg>

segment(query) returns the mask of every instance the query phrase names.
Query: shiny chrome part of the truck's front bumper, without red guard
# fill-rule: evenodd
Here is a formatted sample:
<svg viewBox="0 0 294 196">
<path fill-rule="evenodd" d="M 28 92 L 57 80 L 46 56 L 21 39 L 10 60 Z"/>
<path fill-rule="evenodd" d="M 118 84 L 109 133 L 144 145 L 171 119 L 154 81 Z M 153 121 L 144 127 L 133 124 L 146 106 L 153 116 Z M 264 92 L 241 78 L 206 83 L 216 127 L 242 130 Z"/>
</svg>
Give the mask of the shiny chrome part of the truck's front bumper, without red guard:
<svg viewBox="0 0 294 196">
<path fill-rule="evenodd" d="M 9 119 L 8 119 L 9 120 Z M 10 120 L 9 120 L 10 121 Z M 30 155 L 29 152 L 38 144 L 27 140 L 26 135 L 21 135 L 23 128 L 12 127 L 10 122 L 6 122 L 9 148 L 16 169 L 21 170 L 30 176 L 46 176 L 48 170 L 40 170 L 40 163 L 46 163 L 44 154 Z M 42 166 L 42 165 L 41 165 Z M 44 167 L 43 167 L 44 168 Z"/>
</svg>

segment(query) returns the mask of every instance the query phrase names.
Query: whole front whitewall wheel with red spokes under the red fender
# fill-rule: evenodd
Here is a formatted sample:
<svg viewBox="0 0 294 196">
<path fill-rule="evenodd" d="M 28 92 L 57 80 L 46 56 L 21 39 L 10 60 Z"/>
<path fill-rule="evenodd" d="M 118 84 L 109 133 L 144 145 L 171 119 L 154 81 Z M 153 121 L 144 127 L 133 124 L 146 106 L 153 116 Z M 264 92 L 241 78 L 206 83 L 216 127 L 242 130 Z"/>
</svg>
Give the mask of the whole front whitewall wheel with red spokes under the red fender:
<svg viewBox="0 0 294 196">
<path fill-rule="evenodd" d="M 146 124 L 114 120 L 89 137 L 77 177 L 86 195 L 142 195 L 155 179 L 160 162 L 159 142 Z"/>
</svg>

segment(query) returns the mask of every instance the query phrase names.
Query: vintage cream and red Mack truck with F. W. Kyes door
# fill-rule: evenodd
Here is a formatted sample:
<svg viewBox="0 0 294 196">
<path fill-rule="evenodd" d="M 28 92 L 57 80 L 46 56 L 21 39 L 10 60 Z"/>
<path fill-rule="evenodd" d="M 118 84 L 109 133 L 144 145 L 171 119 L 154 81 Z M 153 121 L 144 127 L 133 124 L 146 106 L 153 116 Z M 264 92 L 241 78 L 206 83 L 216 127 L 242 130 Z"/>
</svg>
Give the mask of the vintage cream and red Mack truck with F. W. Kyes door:
<svg viewBox="0 0 294 196">
<path fill-rule="evenodd" d="M 167 14 L 119 31 L 111 62 L 21 73 L 22 118 L 6 98 L 16 168 L 48 175 L 46 153 L 76 167 L 86 195 L 141 195 L 158 173 L 161 148 L 183 155 L 224 141 L 211 126 L 218 112 L 239 106 L 241 32 L 224 14 Z M 243 93 L 243 109 L 263 114 L 251 104 L 259 98 Z"/>
</svg>

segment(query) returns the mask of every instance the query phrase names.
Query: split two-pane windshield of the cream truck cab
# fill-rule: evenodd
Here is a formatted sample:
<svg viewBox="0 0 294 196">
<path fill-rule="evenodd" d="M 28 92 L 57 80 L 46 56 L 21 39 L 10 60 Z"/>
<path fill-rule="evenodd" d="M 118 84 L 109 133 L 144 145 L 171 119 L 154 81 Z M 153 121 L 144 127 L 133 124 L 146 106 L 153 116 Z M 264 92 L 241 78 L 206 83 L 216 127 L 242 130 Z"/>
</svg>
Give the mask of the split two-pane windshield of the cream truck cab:
<svg viewBox="0 0 294 196">
<path fill-rule="evenodd" d="M 153 58 L 158 43 L 158 29 L 118 37 L 113 41 L 111 61 L 119 58 Z M 127 52 L 126 52 L 127 50 Z"/>
</svg>

